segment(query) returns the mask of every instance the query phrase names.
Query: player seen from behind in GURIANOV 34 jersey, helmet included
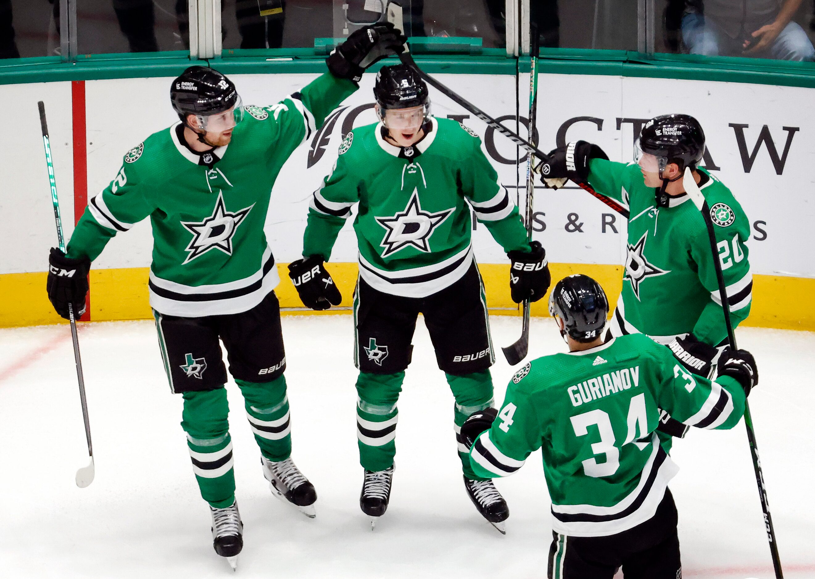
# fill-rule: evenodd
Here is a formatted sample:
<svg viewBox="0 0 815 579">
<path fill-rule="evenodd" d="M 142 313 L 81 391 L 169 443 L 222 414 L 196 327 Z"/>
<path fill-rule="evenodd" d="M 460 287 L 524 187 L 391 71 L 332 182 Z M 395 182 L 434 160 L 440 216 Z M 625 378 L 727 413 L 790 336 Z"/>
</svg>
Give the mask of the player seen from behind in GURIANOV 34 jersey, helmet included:
<svg viewBox="0 0 815 579">
<path fill-rule="evenodd" d="M 685 371 L 632 333 L 603 343 L 608 301 L 585 275 L 562 279 L 549 311 L 569 353 L 535 359 L 510 380 L 504 406 L 471 415 L 461 434 L 474 471 L 507 476 L 540 448 L 552 499 L 549 579 L 681 577 L 678 467 L 655 429 L 663 408 L 688 426 L 733 428 L 758 384 L 746 350 L 725 349 L 718 377 Z"/>
</svg>

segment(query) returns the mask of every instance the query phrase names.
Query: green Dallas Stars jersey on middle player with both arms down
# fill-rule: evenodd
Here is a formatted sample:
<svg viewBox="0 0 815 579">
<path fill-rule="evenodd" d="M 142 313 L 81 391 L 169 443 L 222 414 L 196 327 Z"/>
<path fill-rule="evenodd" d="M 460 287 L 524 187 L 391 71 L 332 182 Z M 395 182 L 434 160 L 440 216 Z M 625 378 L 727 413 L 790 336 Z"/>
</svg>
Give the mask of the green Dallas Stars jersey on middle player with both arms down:
<svg viewBox="0 0 815 579">
<path fill-rule="evenodd" d="M 424 297 L 473 262 L 470 207 L 504 250 L 529 250 L 518 208 L 497 182 L 481 139 L 457 121 L 430 118 L 425 138 L 395 147 L 382 125 L 346 135 L 333 172 L 311 200 L 303 255 L 326 261 L 359 203 L 359 275 L 375 289 Z"/>
</svg>

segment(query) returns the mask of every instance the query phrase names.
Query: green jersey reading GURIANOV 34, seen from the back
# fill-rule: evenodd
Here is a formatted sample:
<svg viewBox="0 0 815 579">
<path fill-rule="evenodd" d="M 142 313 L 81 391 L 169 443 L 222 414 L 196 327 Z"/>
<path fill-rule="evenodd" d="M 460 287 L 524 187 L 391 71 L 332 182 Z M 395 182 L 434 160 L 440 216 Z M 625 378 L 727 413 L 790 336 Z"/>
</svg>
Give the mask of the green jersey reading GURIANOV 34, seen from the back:
<svg viewBox="0 0 815 579">
<path fill-rule="evenodd" d="M 479 476 L 508 476 L 540 448 L 552 529 L 602 537 L 650 519 L 678 467 L 654 432 L 659 408 L 698 428 L 734 428 L 744 391 L 690 375 L 647 336 L 527 363 L 492 427 L 470 449 Z"/>
</svg>

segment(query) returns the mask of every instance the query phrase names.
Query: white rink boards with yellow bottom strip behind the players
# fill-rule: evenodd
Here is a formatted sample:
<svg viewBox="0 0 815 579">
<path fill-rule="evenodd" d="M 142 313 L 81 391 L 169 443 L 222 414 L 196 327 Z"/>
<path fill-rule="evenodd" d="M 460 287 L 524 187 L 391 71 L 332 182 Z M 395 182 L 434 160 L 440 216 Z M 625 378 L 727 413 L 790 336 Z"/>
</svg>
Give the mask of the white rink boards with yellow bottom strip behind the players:
<svg viewBox="0 0 815 579">
<path fill-rule="evenodd" d="M 283 99 L 313 74 L 238 74 L 244 103 L 266 105 Z M 509 75 L 440 74 L 439 79 L 515 128 L 515 79 Z M 307 205 L 337 156 L 341 135 L 375 121 L 373 75 L 329 117 L 324 129 L 300 147 L 272 191 L 267 238 L 281 267 L 281 305 L 302 307 L 284 264 L 300 257 Z M 45 295 L 46 255 L 55 244 L 36 103 L 48 112 L 60 207 L 69 235 L 88 196 L 107 186 L 121 156 L 148 134 L 172 124 L 170 78 L 49 82 L 0 86 L 17 103 L 8 134 L 15 147 L 0 165 L 6 191 L 0 197 L 4 227 L 0 242 L 0 293 L 10 296 L 0 326 L 57 322 Z M 521 78 L 520 111 L 526 116 L 528 86 Z M 538 130 L 541 148 L 576 139 L 601 145 L 612 160 L 630 160 L 641 122 L 666 112 L 685 112 L 702 122 L 708 143 L 707 169 L 742 203 L 751 220 L 748 243 L 755 275 L 748 325 L 815 330 L 815 257 L 809 230 L 815 165 L 811 89 L 720 81 L 688 81 L 588 75 L 544 74 L 540 78 Z M 463 121 L 477 132 L 483 149 L 509 191 L 525 191 L 526 163 L 517 169 L 512 143 L 487 129 L 442 95 L 431 91 L 432 113 Z M 520 126 L 522 134 L 526 127 Z M 547 248 L 553 277 L 582 272 L 595 276 L 615 299 L 625 257 L 625 224 L 606 205 L 582 191 L 535 191 L 535 239 Z M 509 300 L 508 265 L 486 228 L 474 230 L 476 257 L 495 313 L 515 314 Z M 152 239 L 148 222 L 108 243 L 90 276 L 91 320 L 149 318 L 147 268 Z M 345 301 L 356 275 L 355 238 L 350 226 L 337 239 L 328 269 Z M 544 301 L 533 314 L 545 315 Z"/>
</svg>

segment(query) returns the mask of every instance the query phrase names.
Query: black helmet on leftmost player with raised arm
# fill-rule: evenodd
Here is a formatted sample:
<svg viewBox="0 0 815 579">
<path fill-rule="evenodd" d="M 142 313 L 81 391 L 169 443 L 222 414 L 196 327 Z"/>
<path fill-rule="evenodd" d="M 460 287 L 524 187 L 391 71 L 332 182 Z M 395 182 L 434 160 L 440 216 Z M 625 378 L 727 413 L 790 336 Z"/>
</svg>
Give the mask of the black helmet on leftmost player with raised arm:
<svg viewBox="0 0 815 579">
<path fill-rule="evenodd" d="M 236 112 L 240 109 L 235 84 L 217 70 L 205 66 L 191 66 L 182 72 L 170 86 L 170 100 L 184 123 L 190 114 L 203 119 L 231 107 L 235 107 Z"/>
</svg>

